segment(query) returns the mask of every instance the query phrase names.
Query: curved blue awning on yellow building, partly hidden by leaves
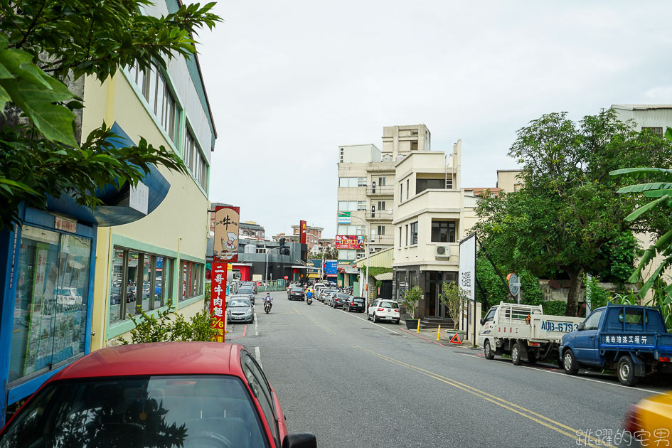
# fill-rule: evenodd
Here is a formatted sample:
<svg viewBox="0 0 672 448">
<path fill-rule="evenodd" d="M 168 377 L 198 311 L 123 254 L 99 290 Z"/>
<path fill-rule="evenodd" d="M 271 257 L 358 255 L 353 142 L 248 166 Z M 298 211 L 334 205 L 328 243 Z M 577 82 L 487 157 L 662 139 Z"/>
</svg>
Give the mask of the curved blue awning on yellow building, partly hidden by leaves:
<svg viewBox="0 0 672 448">
<path fill-rule="evenodd" d="M 124 148 L 135 145 L 117 122 L 112 125 L 112 132 L 118 136 L 110 140 L 114 147 Z M 47 208 L 49 211 L 62 213 L 83 223 L 95 223 L 100 227 L 133 223 L 153 212 L 164 201 L 171 188 L 169 181 L 153 165 L 149 166 L 149 174 L 142 178 L 142 183 L 144 187 L 139 187 L 142 188 L 142 194 L 146 193 L 146 213 L 144 210 L 137 210 L 131 206 L 131 188 L 128 183 L 124 183 L 120 190 L 117 190 L 116 185 L 97 187 L 95 194 L 102 200 L 103 205 L 93 210 L 78 205 L 75 199 L 68 195 L 60 196 L 60 198 L 48 197 Z"/>
</svg>

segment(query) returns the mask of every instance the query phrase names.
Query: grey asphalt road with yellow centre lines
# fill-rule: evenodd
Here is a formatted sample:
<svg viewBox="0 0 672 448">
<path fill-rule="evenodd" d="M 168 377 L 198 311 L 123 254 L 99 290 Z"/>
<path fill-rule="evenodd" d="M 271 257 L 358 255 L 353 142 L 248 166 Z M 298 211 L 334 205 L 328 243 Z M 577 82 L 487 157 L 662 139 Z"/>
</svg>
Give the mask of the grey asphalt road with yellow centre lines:
<svg viewBox="0 0 672 448">
<path fill-rule="evenodd" d="M 403 322 L 373 324 L 366 314 L 272 295 L 270 314 L 258 294 L 255 324 L 229 325 L 227 340 L 262 363 L 289 432 L 313 432 L 320 448 L 627 447 L 614 442 L 627 407 L 672 388 L 487 361 Z"/>
</svg>

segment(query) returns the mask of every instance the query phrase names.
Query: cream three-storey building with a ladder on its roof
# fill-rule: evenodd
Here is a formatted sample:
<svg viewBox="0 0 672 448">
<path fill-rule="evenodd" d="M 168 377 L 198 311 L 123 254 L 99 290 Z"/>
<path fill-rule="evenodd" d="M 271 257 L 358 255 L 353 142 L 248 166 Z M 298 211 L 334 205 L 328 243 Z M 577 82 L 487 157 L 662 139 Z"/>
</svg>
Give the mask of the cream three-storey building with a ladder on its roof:
<svg viewBox="0 0 672 448">
<path fill-rule="evenodd" d="M 452 154 L 417 151 L 395 165 L 393 296 L 419 285 L 418 315 L 448 317 L 444 281 L 457 281 L 459 241 L 476 223 L 476 197 L 460 188 L 462 142 Z"/>
</svg>

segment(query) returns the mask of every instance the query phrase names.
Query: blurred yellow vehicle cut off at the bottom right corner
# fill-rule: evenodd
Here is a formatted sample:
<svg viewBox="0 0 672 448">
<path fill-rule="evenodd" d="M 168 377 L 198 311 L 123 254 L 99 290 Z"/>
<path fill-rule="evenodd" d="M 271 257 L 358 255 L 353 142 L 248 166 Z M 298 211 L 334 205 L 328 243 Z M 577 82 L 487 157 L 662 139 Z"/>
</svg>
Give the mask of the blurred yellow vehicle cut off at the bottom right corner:
<svg viewBox="0 0 672 448">
<path fill-rule="evenodd" d="M 642 446 L 672 446 L 672 390 L 631 405 L 623 429 L 641 440 Z"/>
</svg>

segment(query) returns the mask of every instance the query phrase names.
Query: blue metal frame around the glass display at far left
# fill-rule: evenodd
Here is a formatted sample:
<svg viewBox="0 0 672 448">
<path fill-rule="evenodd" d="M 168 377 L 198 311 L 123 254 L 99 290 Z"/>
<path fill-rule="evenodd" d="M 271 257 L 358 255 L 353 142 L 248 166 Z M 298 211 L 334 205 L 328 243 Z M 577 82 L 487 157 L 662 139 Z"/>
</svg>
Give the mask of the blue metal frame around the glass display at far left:
<svg viewBox="0 0 672 448">
<path fill-rule="evenodd" d="M 21 207 L 20 210 L 23 223 L 33 225 L 35 227 L 44 228 L 57 233 L 67 234 L 63 230 L 55 228 L 55 217 L 50 213 L 36 210 L 33 208 Z M 85 324 L 85 341 L 84 354 L 91 351 L 91 326 L 93 313 L 93 291 L 95 282 L 95 250 L 97 240 L 97 225 L 87 225 L 85 223 L 78 223 L 77 232 L 73 235 L 78 235 L 91 239 L 91 254 L 89 263 L 89 288 L 87 294 L 87 309 L 86 309 L 86 324 Z M 16 245 L 15 245 L 16 241 Z M 2 301 L 0 303 L 0 346 L 11 347 L 12 328 L 14 322 L 14 302 L 16 300 L 16 284 L 17 284 L 17 270 L 19 264 L 19 248 L 21 247 L 21 226 L 16 225 L 14 230 L 4 230 L 0 233 L 0 254 L 5 254 L 5 257 L 0 258 L 0 284 L 3 285 Z M 11 276 L 12 263 L 11 259 L 14 257 L 14 277 L 11 284 L 9 282 Z M 26 398 L 31 393 L 35 392 L 40 386 L 58 370 L 68 366 L 66 363 L 63 366 L 58 366 L 53 370 L 36 375 L 34 378 L 27 380 L 21 384 L 9 388 L 9 360 L 10 351 L 3 350 L 0 355 L 0 378 L 3 383 L 4 397 L 1 406 L 4 410 L 6 405 L 14 403 L 22 398 Z M 5 412 L 0 415 L 0 423 L 4 422 Z"/>
</svg>

